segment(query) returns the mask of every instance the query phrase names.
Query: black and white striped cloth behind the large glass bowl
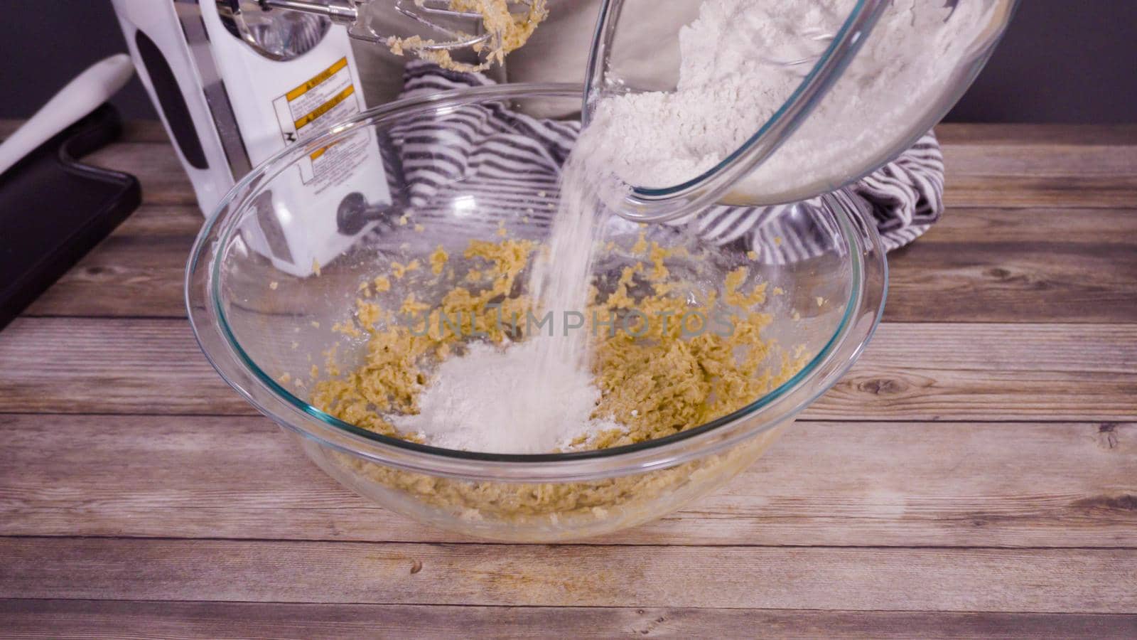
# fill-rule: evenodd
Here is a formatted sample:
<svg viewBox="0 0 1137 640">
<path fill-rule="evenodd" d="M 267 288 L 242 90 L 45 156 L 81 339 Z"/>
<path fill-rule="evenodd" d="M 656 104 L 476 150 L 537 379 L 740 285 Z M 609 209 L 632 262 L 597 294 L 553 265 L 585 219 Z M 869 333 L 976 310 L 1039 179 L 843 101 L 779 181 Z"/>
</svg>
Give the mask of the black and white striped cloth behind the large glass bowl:
<svg viewBox="0 0 1137 640">
<path fill-rule="evenodd" d="M 493 81 L 413 61 L 406 67 L 400 97 L 484 84 Z M 420 218 L 462 224 L 467 231 L 471 225 L 492 231 L 501 221 L 520 219 L 547 225 L 555 212 L 561 165 L 579 131 L 579 122 L 537 118 L 500 102 L 465 105 L 393 126 L 388 143 L 401 166 L 389 173 L 401 182 L 406 204 Z M 944 159 L 935 134 L 929 131 L 894 162 L 852 186 L 852 191 L 873 212 L 888 251 L 914 240 L 944 208 Z M 475 198 L 476 215 L 455 219 L 458 192 Z M 700 238 L 715 244 L 764 249 L 760 252 L 767 256 L 764 262 L 795 262 L 819 253 L 827 241 L 816 237 L 819 232 L 837 233 L 819 231 L 815 218 L 807 232 L 802 229 L 803 207 L 815 205 L 720 205 L 674 224 L 694 225 Z"/>
</svg>

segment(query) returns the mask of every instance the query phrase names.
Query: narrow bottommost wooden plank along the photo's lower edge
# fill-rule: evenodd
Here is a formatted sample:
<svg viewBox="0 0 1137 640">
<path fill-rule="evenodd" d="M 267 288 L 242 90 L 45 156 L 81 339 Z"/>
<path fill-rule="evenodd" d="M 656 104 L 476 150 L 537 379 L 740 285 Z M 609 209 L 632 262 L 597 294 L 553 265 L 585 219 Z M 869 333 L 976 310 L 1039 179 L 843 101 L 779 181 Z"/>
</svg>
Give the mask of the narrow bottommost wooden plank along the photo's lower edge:
<svg viewBox="0 0 1137 640">
<path fill-rule="evenodd" d="M 16 638 L 1036 638 L 1137 635 L 1137 616 L 667 607 L 0 600 Z"/>
</svg>

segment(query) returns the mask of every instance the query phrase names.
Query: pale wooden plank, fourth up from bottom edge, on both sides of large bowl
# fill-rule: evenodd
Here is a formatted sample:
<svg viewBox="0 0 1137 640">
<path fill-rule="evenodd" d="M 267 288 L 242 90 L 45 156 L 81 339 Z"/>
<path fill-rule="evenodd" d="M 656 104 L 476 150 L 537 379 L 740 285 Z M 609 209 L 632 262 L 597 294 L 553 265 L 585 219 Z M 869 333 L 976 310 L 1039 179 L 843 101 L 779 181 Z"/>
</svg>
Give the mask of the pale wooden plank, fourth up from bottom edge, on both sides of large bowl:
<svg viewBox="0 0 1137 640">
<path fill-rule="evenodd" d="M 251 415 L 184 320 L 20 318 L 0 412 Z M 279 375 L 272 372 L 272 375 Z M 803 415 L 836 420 L 1131 420 L 1137 325 L 885 323 Z"/>
</svg>

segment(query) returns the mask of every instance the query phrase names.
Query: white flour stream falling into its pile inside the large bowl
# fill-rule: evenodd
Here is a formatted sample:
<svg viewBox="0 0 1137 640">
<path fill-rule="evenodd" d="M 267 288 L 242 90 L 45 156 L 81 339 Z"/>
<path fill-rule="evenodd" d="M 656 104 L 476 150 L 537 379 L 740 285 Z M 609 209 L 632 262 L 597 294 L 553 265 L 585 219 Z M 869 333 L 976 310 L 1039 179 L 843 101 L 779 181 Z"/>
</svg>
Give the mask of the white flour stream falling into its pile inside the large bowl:
<svg viewBox="0 0 1137 640">
<path fill-rule="evenodd" d="M 538 259 L 530 277 L 534 319 L 550 313 L 548 323 L 534 325 L 524 343 L 504 350 L 473 344 L 465 355 L 442 362 L 420 397 L 421 412 L 395 418 L 400 429 L 448 449 L 548 453 L 579 436 L 622 428 L 591 417 L 600 391 L 588 362 L 587 306 L 599 197 L 622 188 L 607 170 L 613 149 L 599 140 L 581 134 L 565 163 L 549 259 Z"/>
</svg>

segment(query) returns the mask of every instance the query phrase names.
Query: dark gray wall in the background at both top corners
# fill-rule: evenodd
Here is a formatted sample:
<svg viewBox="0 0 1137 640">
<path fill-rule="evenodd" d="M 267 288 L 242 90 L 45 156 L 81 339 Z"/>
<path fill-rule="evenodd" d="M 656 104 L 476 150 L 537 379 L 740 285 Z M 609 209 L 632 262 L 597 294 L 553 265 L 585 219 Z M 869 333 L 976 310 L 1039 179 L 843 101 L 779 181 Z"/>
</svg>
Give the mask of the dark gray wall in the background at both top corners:
<svg viewBox="0 0 1137 640">
<path fill-rule="evenodd" d="M 26 117 L 88 65 L 125 50 L 108 0 L 2 5 L 0 117 Z M 138 80 L 115 104 L 126 117 L 156 117 Z M 994 58 L 946 120 L 1137 122 L 1137 0 L 1022 0 Z"/>
</svg>

